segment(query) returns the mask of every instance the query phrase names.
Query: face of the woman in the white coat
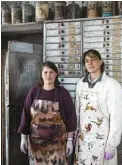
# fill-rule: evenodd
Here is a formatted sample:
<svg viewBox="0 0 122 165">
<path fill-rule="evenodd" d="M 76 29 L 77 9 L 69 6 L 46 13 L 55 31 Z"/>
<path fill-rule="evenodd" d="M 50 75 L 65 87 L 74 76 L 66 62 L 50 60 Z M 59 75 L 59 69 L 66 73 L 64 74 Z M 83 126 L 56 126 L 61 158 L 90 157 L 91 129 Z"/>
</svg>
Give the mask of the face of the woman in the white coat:
<svg viewBox="0 0 122 165">
<path fill-rule="evenodd" d="M 98 73 L 101 72 L 100 66 L 102 64 L 102 60 L 98 59 L 94 55 L 85 57 L 85 66 L 89 73 Z"/>
</svg>

